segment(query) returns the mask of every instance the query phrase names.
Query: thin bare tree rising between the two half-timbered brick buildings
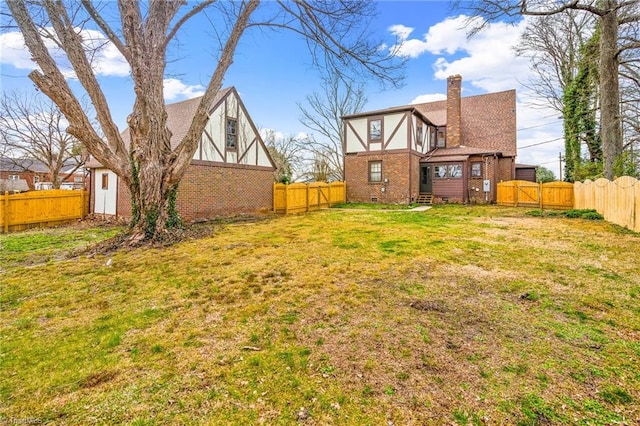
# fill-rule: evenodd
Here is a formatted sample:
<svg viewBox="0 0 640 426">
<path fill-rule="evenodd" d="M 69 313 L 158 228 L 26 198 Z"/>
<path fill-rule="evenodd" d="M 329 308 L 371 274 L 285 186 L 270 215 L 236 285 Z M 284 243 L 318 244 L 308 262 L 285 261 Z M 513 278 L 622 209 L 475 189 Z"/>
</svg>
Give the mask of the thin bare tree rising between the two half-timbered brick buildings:
<svg viewBox="0 0 640 426">
<path fill-rule="evenodd" d="M 322 90 L 322 93 L 308 95 L 306 106 L 298 103 L 302 113 L 300 122 L 319 135 L 319 139 L 310 136 L 305 141 L 305 149 L 312 154 L 312 169 L 322 164 L 326 171 L 322 180 L 344 180 L 342 116 L 362 111 L 367 98 L 361 83 L 342 74 L 325 73 Z"/>
</svg>

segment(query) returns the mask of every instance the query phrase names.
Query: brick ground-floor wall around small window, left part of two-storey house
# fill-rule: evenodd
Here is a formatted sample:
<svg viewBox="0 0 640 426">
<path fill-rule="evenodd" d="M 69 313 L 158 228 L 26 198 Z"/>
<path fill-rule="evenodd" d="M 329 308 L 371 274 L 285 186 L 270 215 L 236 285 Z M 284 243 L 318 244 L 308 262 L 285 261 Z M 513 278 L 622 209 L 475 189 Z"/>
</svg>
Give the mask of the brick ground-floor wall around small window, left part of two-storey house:
<svg viewBox="0 0 640 426">
<path fill-rule="evenodd" d="M 369 182 L 370 161 L 382 161 L 383 182 Z M 367 203 L 377 199 L 381 203 L 409 203 L 411 194 L 417 194 L 418 190 L 417 162 L 417 156 L 409 151 L 345 156 L 345 176 L 349 176 L 347 201 Z M 410 164 L 415 170 L 410 168 Z"/>
</svg>

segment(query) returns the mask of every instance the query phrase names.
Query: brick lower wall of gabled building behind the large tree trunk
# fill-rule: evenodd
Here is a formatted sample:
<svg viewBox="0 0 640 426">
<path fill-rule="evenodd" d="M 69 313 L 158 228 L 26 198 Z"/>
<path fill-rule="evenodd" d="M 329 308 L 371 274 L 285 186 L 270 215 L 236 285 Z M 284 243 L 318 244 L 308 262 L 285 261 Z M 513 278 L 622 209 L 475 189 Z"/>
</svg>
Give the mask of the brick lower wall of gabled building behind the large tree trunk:
<svg viewBox="0 0 640 426">
<path fill-rule="evenodd" d="M 180 182 L 176 205 L 186 222 L 270 211 L 273 208 L 273 170 L 194 162 Z M 117 211 L 120 217 L 131 217 L 130 192 L 121 181 Z"/>
</svg>

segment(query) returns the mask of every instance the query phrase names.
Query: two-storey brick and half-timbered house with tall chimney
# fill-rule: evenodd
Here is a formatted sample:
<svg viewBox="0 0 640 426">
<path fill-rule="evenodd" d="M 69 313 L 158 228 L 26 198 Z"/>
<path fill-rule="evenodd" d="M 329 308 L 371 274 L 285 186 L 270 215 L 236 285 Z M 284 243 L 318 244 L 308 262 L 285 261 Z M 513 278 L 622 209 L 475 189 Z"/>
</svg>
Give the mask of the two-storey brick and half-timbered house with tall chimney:
<svg viewBox="0 0 640 426">
<path fill-rule="evenodd" d="M 496 184 L 515 176 L 515 90 L 342 117 L 347 201 L 493 202 Z"/>
</svg>

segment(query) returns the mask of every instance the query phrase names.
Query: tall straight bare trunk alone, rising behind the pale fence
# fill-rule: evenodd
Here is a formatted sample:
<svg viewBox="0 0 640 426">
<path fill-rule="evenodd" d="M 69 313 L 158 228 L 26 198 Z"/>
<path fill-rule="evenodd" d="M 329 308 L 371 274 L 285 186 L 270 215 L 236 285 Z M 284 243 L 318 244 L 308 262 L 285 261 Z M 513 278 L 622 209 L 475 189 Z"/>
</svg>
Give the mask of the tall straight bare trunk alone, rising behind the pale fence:
<svg viewBox="0 0 640 426">
<path fill-rule="evenodd" d="M 618 82 L 617 0 L 605 0 L 609 12 L 600 20 L 600 134 L 602 137 L 604 177 L 613 179 L 622 154 L 620 126 L 620 88 Z"/>
</svg>

